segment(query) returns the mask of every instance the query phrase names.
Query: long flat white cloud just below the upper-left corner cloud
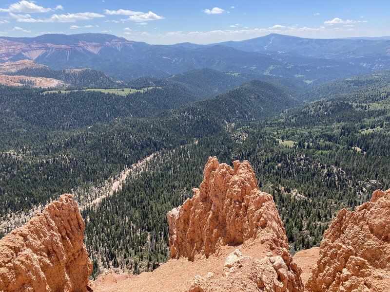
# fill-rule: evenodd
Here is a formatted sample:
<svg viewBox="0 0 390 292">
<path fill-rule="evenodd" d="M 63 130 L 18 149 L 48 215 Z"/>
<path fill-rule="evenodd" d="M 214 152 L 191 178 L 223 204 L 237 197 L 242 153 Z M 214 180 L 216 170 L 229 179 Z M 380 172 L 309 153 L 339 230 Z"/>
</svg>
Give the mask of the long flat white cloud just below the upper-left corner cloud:
<svg viewBox="0 0 390 292">
<path fill-rule="evenodd" d="M 101 18 L 104 15 L 94 12 L 79 12 L 67 14 L 53 14 L 50 18 L 32 18 L 29 14 L 13 14 L 10 16 L 18 22 L 76 22 L 78 20 L 91 20 L 93 18 Z"/>
</svg>

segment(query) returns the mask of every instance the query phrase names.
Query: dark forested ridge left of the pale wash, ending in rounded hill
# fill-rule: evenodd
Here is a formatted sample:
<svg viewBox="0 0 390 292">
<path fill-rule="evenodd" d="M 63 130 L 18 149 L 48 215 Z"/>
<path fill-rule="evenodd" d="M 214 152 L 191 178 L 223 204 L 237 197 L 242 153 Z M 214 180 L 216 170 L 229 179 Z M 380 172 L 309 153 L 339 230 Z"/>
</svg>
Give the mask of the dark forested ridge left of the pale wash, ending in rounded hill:
<svg viewBox="0 0 390 292">
<path fill-rule="evenodd" d="M 38 90 L 4 88 L 1 172 L 7 175 L 1 190 L 8 194 L 7 200 L 1 198 L 4 212 L 44 203 L 76 187 L 82 177 L 85 182 L 99 182 L 154 151 L 219 133 L 239 121 L 264 119 L 295 104 L 286 91 L 252 81 L 153 119 L 133 118 L 152 117 L 190 102 L 191 95 L 186 92 L 166 88 L 126 96 L 95 91 L 42 94 Z M 128 150 L 120 151 L 125 145 Z M 7 152 L 10 149 L 13 151 Z M 9 167 L 16 173 L 9 172 Z M 42 181 L 43 173 L 51 173 L 51 180 Z M 34 179 L 25 180 L 26 176 Z M 18 187 L 13 189 L 16 182 Z M 26 193 L 31 194 L 31 200 L 20 202 L 17 198 Z"/>
</svg>

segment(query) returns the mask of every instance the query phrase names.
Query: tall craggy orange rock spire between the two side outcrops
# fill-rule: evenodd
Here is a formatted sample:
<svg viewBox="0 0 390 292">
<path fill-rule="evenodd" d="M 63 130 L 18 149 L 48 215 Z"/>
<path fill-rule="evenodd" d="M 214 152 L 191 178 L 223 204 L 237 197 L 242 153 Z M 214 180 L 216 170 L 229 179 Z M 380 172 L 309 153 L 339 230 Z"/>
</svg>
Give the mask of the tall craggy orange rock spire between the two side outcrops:
<svg viewBox="0 0 390 292">
<path fill-rule="evenodd" d="M 220 275 L 197 277 L 190 291 L 303 291 L 272 196 L 258 190 L 248 161 L 233 165 L 210 157 L 193 198 L 168 212 L 171 257 L 196 261 L 223 246 L 258 245 L 258 256 L 234 251 Z"/>
</svg>

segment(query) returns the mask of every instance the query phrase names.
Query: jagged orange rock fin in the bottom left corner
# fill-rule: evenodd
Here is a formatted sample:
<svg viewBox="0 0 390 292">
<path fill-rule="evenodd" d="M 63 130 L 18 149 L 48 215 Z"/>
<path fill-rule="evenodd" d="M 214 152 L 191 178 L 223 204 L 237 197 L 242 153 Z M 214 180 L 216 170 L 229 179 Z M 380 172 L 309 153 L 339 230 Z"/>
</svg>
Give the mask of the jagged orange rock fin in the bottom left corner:
<svg viewBox="0 0 390 292">
<path fill-rule="evenodd" d="M 87 291 L 92 263 L 83 240 L 78 205 L 62 195 L 0 240 L 0 291 Z"/>
</svg>

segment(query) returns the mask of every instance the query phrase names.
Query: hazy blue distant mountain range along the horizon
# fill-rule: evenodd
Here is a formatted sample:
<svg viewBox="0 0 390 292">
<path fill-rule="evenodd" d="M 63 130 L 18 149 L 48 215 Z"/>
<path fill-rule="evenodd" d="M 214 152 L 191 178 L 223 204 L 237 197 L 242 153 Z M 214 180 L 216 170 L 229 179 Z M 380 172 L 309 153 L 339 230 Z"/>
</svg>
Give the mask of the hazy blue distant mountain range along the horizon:
<svg viewBox="0 0 390 292">
<path fill-rule="evenodd" d="M 107 34 L 0 37 L 0 62 L 23 59 L 53 70 L 91 68 L 116 80 L 209 68 L 316 84 L 390 68 L 390 39 L 271 34 L 210 45 L 150 45 Z"/>
</svg>

